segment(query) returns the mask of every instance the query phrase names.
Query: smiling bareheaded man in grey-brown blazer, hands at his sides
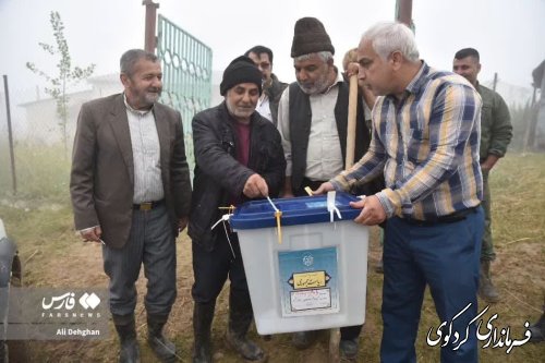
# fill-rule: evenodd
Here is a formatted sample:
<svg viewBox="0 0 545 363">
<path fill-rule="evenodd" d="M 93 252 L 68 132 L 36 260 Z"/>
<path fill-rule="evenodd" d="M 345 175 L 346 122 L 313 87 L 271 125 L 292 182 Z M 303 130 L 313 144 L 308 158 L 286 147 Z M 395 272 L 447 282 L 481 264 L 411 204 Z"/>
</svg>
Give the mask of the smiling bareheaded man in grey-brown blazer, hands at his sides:
<svg viewBox="0 0 545 363">
<path fill-rule="evenodd" d="M 120 362 L 138 362 L 134 307 L 141 265 L 147 278 L 148 343 L 164 362 L 175 347 L 162 335 L 175 300 L 175 244 L 187 225 L 191 183 L 178 111 L 157 102 L 158 58 L 141 49 L 121 57 L 124 93 L 82 106 L 70 192 L 75 228 L 101 242 Z"/>
</svg>

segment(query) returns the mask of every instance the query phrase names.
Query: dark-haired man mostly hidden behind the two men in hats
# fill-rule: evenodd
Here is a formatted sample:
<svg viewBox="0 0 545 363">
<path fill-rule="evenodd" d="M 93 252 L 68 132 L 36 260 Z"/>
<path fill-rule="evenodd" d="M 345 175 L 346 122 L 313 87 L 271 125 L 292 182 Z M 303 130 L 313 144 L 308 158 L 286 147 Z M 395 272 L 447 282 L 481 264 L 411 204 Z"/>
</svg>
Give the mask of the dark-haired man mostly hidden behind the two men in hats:
<svg viewBox="0 0 545 363">
<path fill-rule="evenodd" d="M 263 93 L 257 101 L 256 111 L 264 118 L 278 125 L 278 102 L 282 92 L 288 87 L 272 73 L 272 50 L 264 46 L 255 46 L 246 50 L 244 56 L 250 57 L 263 74 Z"/>
</svg>

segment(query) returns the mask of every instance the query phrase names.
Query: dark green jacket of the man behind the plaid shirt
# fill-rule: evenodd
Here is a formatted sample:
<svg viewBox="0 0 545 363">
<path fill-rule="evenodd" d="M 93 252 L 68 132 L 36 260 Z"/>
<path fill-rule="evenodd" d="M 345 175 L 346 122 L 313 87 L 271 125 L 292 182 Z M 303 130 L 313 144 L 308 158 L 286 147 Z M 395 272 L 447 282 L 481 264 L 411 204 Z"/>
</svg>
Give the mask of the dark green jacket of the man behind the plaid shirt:
<svg viewBox="0 0 545 363">
<path fill-rule="evenodd" d="M 509 109 L 501 96 L 477 83 L 476 90 L 483 99 L 481 112 L 481 161 L 489 154 L 502 157 L 511 142 L 512 125 Z"/>
</svg>

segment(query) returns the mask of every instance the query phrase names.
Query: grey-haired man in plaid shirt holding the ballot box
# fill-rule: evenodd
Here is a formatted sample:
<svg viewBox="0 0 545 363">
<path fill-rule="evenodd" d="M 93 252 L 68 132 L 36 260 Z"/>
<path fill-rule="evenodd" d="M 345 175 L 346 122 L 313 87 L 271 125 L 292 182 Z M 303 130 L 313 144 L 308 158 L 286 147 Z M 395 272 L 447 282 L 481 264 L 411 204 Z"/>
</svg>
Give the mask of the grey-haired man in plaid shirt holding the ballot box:
<svg viewBox="0 0 545 363">
<path fill-rule="evenodd" d="M 384 172 L 386 187 L 352 206 L 356 222 L 388 218 L 384 244 L 382 362 L 416 362 L 426 285 L 446 326 L 441 362 L 477 362 L 481 97 L 463 77 L 419 59 L 412 32 L 380 23 L 362 37 L 359 78 L 376 96 L 373 140 L 353 168 L 315 194 L 349 190 Z M 458 332 L 458 338 L 456 337 Z M 448 334 L 448 336 L 447 336 Z M 429 337 L 428 337 L 429 338 Z M 448 343 L 445 343 L 448 341 Z"/>
</svg>

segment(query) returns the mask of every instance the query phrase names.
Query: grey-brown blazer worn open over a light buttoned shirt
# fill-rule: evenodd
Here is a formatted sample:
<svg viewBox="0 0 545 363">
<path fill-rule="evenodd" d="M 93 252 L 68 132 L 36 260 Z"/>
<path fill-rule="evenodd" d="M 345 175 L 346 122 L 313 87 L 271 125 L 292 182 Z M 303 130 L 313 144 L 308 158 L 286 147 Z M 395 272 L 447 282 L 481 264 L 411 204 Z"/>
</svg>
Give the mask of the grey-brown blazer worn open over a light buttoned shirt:
<svg viewBox="0 0 545 363">
<path fill-rule="evenodd" d="M 191 182 L 180 112 L 156 102 L 165 202 L 174 235 L 189 216 Z M 134 165 L 123 95 L 82 106 L 72 154 L 70 193 L 75 228 L 100 225 L 101 239 L 114 249 L 129 240 L 133 214 Z"/>
</svg>

